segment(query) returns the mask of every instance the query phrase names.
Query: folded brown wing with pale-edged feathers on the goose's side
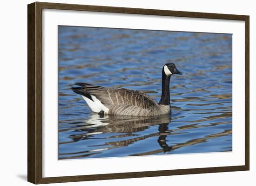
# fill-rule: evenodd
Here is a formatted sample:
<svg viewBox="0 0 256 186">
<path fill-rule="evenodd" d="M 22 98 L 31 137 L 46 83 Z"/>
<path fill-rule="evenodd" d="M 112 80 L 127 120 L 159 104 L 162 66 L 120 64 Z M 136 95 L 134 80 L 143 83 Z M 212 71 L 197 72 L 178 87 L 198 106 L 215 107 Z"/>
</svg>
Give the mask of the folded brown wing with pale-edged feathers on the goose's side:
<svg viewBox="0 0 256 186">
<path fill-rule="evenodd" d="M 82 83 L 79 85 L 82 85 Z M 86 83 L 83 85 L 85 91 L 95 96 L 108 108 L 112 105 L 125 104 L 141 109 L 148 109 L 157 104 L 153 98 L 137 90 L 105 88 Z"/>
</svg>

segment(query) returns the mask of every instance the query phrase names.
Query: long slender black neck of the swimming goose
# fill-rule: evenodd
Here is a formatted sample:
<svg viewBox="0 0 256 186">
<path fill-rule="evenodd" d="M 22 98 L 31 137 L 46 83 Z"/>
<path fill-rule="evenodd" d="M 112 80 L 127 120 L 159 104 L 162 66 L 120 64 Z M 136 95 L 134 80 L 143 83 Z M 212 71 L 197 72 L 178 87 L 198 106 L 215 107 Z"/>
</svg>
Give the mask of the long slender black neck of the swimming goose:
<svg viewBox="0 0 256 186">
<path fill-rule="evenodd" d="M 159 104 L 169 105 L 170 104 L 170 76 L 166 76 L 164 69 L 162 69 L 162 96 Z"/>
</svg>

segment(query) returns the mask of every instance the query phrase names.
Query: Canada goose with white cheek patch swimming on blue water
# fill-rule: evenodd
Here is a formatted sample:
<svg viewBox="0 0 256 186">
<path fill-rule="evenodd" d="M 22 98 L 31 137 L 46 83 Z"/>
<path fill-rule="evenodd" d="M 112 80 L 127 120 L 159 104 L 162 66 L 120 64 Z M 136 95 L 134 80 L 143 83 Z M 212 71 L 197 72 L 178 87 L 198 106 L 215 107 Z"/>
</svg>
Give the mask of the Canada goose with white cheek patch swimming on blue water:
<svg viewBox="0 0 256 186">
<path fill-rule="evenodd" d="M 182 74 L 175 64 L 162 68 L 162 96 L 159 103 L 147 94 L 129 89 L 114 89 L 88 83 L 75 83 L 72 90 L 82 95 L 93 112 L 99 115 L 154 116 L 171 113 L 169 82 L 173 74 Z"/>
</svg>

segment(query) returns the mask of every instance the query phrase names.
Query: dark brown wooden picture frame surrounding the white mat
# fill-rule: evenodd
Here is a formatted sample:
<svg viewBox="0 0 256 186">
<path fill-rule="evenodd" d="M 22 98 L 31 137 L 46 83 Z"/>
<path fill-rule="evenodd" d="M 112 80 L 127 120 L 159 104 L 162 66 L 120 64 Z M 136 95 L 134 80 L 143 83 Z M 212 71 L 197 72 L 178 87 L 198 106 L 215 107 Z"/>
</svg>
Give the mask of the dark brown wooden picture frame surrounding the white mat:
<svg viewBox="0 0 256 186">
<path fill-rule="evenodd" d="M 42 9 L 245 21 L 245 165 L 42 178 Z M 249 170 L 249 16 L 35 2 L 27 6 L 27 180 L 34 184 Z"/>
</svg>

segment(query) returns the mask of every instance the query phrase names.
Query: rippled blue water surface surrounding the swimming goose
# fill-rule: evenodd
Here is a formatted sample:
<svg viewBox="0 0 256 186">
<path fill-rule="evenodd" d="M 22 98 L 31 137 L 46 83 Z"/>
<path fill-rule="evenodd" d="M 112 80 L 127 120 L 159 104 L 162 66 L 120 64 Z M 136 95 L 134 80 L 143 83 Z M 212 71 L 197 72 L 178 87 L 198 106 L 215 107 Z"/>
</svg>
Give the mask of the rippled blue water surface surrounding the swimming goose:
<svg viewBox="0 0 256 186">
<path fill-rule="evenodd" d="M 59 159 L 232 151 L 232 35 L 59 26 Z M 76 82 L 161 97 L 172 115 L 92 113 Z"/>
</svg>

